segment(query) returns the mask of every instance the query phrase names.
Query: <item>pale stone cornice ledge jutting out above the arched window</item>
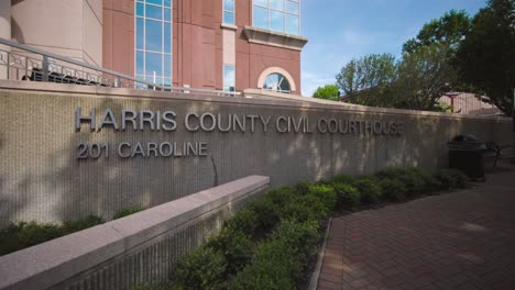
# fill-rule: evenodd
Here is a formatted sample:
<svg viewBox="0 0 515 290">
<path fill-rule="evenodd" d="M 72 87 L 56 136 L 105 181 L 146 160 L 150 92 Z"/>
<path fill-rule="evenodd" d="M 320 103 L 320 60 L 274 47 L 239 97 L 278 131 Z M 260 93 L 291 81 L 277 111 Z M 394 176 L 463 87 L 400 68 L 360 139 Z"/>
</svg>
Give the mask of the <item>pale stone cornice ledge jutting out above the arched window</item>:
<svg viewBox="0 0 515 290">
<path fill-rule="evenodd" d="M 306 37 L 262 30 L 254 26 L 245 26 L 243 33 L 249 40 L 249 43 L 265 44 L 295 51 L 302 51 L 304 45 L 308 42 Z"/>
</svg>

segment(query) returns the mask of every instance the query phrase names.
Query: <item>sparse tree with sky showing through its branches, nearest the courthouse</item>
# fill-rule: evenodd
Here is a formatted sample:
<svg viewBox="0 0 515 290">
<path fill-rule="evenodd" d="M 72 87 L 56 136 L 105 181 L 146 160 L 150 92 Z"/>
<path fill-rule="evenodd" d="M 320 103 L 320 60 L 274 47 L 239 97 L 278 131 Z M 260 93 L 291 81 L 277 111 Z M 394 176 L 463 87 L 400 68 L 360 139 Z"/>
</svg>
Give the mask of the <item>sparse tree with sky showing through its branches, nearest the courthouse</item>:
<svg viewBox="0 0 515 290">
<path fill-rule="evenodd" d="M 396 78 L 397 64 L 391 54 L 369 55 L 350 60 L 337 75 L 337 85 L 351 102 L 385 104 L 384 96 Z"/>
</svg>

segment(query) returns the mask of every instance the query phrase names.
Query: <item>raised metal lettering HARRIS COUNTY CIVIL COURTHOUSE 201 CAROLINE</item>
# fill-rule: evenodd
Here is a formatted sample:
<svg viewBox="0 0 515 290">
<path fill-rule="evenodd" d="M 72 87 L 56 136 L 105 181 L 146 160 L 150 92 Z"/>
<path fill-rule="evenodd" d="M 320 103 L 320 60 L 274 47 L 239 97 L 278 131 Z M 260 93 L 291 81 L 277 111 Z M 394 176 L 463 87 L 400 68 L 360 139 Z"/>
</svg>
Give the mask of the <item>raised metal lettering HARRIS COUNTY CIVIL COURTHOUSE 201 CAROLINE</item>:
<svg viewBox="0 0 515 290">
<path fill-rule="evenodd" d="M 75 131 L 81 131 L 81 123 L 89 123 L 90 134 L 101 130 L 114 131 L 154 131 L 171 132 L 177 130 L 177 122 L 188 132 L 241 132 L 254 133 L 260 130 L 266 133 L 275 130 L 278 133 L 294 134 L 360 134 L 360 135 L 392 135 L 401 136 L 404 132 L 402 122 L 390 121 L 361 121 L 351 119 L 326 119 L 315 121 L 308 116 L 272 116 L 255 114 L 213 114 L 188 113 L 177 115 L 175 111 L 151 111 L 123 109 L 118 114 L 111 109 L 106 109 L 99 118 L 97 110 L 92 108 L 88 114 L 83 114 L 81 107 L 75 111 Z M 173 136 L 173 135 L 171 135 Z M 114 154 L 121 158 L 134 157 L 187 157 L 207 156 L 207 142 L 121 142 L 119 144 L 80 142 L 77 145 L 77 158 L 109 158 Z"/>
</svg>

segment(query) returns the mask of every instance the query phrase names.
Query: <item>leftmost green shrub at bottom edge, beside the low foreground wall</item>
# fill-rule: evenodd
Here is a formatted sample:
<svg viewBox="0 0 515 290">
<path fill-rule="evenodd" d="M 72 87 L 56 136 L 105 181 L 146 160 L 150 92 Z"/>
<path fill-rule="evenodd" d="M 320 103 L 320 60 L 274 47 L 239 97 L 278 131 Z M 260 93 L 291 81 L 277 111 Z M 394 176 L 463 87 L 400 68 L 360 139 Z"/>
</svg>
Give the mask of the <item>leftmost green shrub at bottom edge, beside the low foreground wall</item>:
<svg viewBox="0 0 515 290">
<path fill-rule="evenodd" d="M 179 258 L 172 289 L 223 289 L 227 261 L 220 252 L 200 247 Z"/>
</svg>

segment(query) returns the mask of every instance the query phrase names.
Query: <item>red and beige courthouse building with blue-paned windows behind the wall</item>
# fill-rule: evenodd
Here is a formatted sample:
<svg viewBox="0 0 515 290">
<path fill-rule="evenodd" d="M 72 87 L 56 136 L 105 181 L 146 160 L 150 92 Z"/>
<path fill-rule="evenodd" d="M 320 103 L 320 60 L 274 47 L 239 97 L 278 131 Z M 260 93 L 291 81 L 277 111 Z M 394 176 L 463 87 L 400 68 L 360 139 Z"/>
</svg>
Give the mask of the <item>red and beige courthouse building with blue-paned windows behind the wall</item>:
<svg viewBox="0 0 515 290">
<path fill-rule="evenodd" d="M 165 86 L 300 92 L 300 0 L 1 2 L 21 44 Z"/>
</svg>

